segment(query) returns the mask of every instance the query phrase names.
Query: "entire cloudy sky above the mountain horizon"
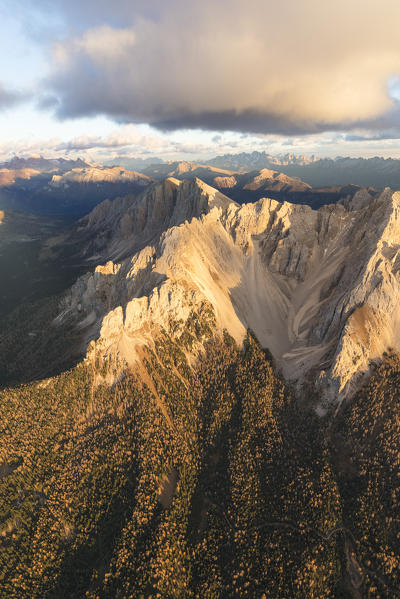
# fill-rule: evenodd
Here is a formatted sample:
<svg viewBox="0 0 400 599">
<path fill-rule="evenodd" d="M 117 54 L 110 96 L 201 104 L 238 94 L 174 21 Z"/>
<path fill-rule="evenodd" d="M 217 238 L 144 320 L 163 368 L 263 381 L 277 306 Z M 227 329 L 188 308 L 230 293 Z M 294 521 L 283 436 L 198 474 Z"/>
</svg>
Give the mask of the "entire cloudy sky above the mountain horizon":
<svg viewBox="0 0 400 599">
<path fill-rule="evenodd" d="M 0 0 L 0 160 L 400 157 L 396 0 Z"/>
</svg>

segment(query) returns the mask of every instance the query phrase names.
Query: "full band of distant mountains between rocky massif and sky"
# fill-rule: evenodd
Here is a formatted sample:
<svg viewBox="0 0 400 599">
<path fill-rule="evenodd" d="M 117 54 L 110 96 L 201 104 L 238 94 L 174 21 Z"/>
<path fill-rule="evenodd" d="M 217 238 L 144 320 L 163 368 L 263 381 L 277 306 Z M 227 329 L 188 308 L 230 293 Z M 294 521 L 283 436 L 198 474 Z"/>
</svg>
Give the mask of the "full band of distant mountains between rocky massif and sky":
<svg viewBox="0 0 400 599">
<path fill-rule="evenodd" d="M 105 199 L 137 194 L 166 177 L 205 181 L 239 204 L 262 197 L 319 208 L 351 198 L 400 189 L 400 160 L 317 159 L 266 152 L 226 154 L 206 162 L 141 160 L 141 171 L 91 165 L 80 158 L 15 157 L 0 164 L 0 208 L 33 214 L 82 216 Z"/>
</svg>

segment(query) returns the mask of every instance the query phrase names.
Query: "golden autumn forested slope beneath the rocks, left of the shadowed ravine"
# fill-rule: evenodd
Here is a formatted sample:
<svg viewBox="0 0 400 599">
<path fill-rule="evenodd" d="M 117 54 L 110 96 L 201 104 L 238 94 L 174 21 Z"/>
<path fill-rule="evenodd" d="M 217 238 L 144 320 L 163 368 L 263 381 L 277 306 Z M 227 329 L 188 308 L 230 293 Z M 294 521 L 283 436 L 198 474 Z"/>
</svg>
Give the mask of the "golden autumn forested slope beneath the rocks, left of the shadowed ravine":
<svg viewBox="0 0 400 599">
<path fill-rule="evenodd" d="M 1 393 L 1 596 L 337 596 L 324 440 L 254 338 L 192 369 L 164 337 L 144 364 Z"/>
</svg>

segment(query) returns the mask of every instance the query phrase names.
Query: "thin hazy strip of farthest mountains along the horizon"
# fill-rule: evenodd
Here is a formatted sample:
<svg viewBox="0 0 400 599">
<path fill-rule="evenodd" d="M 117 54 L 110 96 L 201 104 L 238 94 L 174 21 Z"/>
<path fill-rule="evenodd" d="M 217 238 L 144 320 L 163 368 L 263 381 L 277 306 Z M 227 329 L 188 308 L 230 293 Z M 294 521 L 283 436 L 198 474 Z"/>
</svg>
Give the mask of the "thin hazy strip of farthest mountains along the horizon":
<svg viewBox="0 0 400 599">
<path fill-rule="evenodd" d="M 120 166 L 122 165 L 122 166 Z M 109 165 L 90 165 L 78 158 L 44 158 L 31 156 L 15 157 L 8 162 L 0 163 L 0 187 L 10 184 L 16 178 L 30 179 L 37 174 L 63 174 L 75 169 L 113 169 L 138 171 L 156 180 L 167 176 L 186 178 L 194 176 L 211 179 L 204 169 L 216 169 L 215 176 L 231 176 L 264 169 L 279 171 L 294 179 L 301 179 L 312 187 L 331 187 L 358 185 L 384 189 L 400 189 L 400 159 L 395 158 L 317 158 L 315 156 L 296 156 L 288 153 L 274 156 L 267 152 L 242 152 L 224 154 L 205 161 L 163 161 L 160 158 L 125 158 L 121 157 L 120 165 L 115 161 Z M 229 171 L 229 173 L 224 173 Z M 116 172 L 116 171 L 115 171 Z"/>
</svg>

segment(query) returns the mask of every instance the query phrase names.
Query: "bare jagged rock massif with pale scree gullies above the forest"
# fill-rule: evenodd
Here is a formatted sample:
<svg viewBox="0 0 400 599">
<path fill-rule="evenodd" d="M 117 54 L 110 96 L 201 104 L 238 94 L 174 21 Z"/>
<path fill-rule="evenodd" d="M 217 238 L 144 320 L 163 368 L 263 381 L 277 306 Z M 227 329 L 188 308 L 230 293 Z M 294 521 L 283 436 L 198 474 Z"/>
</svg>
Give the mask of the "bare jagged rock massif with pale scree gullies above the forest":
<svg viewBox="0 0 400 599">
<path fill-rule="evenodd" d="M 400 349 L 400 193 L 367 195 L 319 210 L 239 206 L 198 179 L 167 179 L 105 202 L 80 231 L 101 239 L 104 265 L 78 279 L 59 320 L 78 318 L 86 343 L 131 363 L 208 306 L 216 332 L 240 343 L 251 328 L 286 378 L 316 377 L 338 403 Z"/>
</svg>

